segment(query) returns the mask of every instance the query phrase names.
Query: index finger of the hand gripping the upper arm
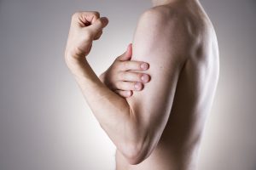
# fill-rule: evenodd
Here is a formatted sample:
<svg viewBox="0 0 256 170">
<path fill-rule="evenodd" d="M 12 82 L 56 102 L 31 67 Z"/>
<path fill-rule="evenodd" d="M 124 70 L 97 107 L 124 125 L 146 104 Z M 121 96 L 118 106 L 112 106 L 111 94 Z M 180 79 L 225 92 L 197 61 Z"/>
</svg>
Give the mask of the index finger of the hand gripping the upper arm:
<svg viewBox="0 0 256 170">
<path fill-rule="evenodd" d="M 149 65 L 143 61 L 122 61 L 119 63 L 119 70 L 120 71 L 146 71 L 148 70 Z"/>
</svg>

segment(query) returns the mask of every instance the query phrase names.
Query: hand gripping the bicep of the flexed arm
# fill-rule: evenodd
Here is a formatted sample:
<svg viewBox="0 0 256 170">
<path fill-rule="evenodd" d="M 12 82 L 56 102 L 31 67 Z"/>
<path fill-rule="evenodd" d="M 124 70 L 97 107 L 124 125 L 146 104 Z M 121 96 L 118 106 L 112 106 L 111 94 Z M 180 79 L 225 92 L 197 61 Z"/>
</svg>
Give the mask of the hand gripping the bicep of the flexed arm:
<svg viewBox="0 0 256 170">
<path fill-rule="evenodd" d="M 148 74 L 137 72 L 148 70 L 148 63 L 131 60 L 131 55 L 132 45 L 129 44 L 125 54 L 116 58 L 99 77 L 109 89 L 125 98 L 131 97 L 134 90 L 143 90 L 143 83 L 150 81 Z"/>
</svg>

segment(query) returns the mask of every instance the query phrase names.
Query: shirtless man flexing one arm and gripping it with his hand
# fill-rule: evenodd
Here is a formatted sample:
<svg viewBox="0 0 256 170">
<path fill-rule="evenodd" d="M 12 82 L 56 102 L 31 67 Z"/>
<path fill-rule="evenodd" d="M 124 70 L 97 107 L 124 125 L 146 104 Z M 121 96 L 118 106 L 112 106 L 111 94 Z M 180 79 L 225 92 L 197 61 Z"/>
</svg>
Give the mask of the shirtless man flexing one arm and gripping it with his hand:
<svg viewBox="0 0 256 170">
<path fill-rule="evenodd" d="M 195 170 L 218 83 L 217 38 L 198 0 L 152 3 L 138 21 L 132 54 L 130 45 L 101 79 L 86 56 L 108 19 L 73 14 L 66 63 L 117 147 L 117 170 Z"/>
</svg>

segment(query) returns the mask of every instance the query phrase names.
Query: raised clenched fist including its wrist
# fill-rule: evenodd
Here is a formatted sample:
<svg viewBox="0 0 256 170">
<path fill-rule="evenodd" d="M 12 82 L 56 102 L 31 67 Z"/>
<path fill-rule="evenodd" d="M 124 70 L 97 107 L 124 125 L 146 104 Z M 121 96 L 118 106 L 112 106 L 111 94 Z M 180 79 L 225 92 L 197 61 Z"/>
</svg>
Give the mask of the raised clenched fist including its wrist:
<svg viewBox="0 0 256 170">
<path fill-rule="evenodd" d="M 101 18 L 98 12 L 73 14 L 67 38 L 65 60 L 74 74 L 83 67 L 82 61 L 90 53 L 92 42 L 102 36 L 102 30 L 107 25 L 108 18 Z"/>
</svg>

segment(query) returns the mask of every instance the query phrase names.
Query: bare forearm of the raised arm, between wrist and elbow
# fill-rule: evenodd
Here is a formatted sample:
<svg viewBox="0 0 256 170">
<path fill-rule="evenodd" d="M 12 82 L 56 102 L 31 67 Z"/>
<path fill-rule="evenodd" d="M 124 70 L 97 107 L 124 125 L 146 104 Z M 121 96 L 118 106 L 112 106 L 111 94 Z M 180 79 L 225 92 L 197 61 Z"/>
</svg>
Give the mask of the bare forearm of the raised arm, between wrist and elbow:
<svg viewBox="0 0 256 170">
<path fill-rule="evenodd" d="M 137 124 L 126 99 L 107 88 L 87 60 L 82 72 L 74 77 L 97 121 L 120 151 L 130 148 L 136 141 Z"/>
</svg>

